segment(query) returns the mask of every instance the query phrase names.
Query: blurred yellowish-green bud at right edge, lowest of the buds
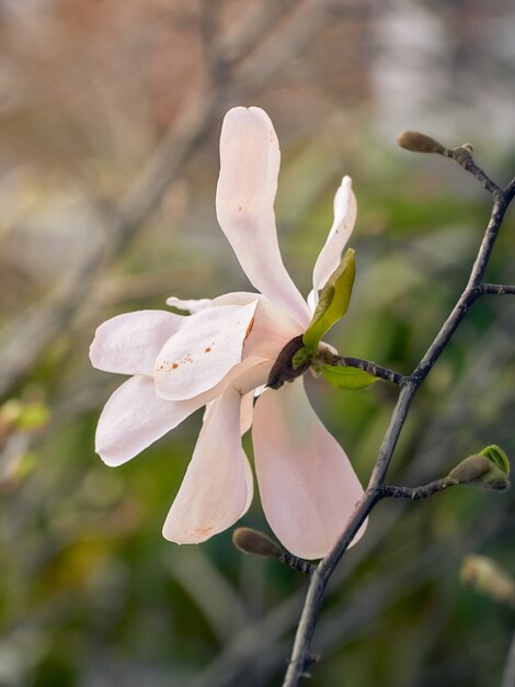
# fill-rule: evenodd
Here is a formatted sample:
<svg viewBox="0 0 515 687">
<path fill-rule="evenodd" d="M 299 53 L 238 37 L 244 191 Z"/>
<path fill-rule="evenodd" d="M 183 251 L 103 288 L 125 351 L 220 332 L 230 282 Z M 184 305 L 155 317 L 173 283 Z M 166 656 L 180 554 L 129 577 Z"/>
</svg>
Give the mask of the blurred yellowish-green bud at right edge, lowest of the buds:
<svg viewBox="0 0 515 687">
<path fill-rule="evenodd" d="M 461 564 L 460 578 L 479 594 L 515 608 L 515 579 L 492 559 L 467 556 Z"/>
</svg>

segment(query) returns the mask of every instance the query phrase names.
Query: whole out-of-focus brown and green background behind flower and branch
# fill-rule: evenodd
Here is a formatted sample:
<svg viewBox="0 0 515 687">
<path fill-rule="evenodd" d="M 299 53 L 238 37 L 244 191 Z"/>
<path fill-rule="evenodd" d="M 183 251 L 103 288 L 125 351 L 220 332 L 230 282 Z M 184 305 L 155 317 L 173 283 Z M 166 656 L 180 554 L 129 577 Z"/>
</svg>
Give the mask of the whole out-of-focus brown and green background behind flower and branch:
<svg viewBox="0 0 515 687">
<path fill-rule="evenodd" d="M 0 1 L 0 687 L 281 685 L 306 578 L 161 527 L 194 416 L 113 470 L 94 453 L 119 384 L 95 327 L 170 295 L 248 289 L 215 217 L 225 112 L 260 105 L 282 145 L 276 202 L 301 291 L 353 177 L 358 274 L 342 354 L 409 373 L 466 283 L 490 213 L 471 176 L 396 148 L 403 128 L 515 167 L 508 0 Z M 506 218 L 488 279 L 513 283 Z M 390 478 L 439 477 L 489 443 L 515 453 L 508 297 L 469 313 L 414 404 Z M 366 482 L 394 401 L 316 382 Z M 249 443 L 249 442 L 247 442 Z M 513 611 L 460 584 L 464 556 L 512 574 L 513 491 L 382 503 L 340 566 L 313 687 L 497 685 Z M 258 498 L 243 523 L 267 531 Z"/>
</svg>

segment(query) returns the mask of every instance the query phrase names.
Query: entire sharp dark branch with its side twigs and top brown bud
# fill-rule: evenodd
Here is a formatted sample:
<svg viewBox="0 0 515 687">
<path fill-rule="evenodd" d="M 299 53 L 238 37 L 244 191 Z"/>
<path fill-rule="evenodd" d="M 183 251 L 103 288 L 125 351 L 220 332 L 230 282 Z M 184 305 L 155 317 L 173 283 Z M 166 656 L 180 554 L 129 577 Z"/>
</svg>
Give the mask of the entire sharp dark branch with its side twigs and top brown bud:
<svg viewBox="0 0 515 687">
<path fill-rule="evenodd" d="M 472 148 L 469 144 L 458 148 L 448 149 L 435 139 L 417 134 L 416 132 L 403 132 L 399 137 L 399 145 L 420 153 L 436 153 L 448 157 L 470 172 L 481 185 L 491 193 L 493 198 L 493 209 L 490 222 L 487 226 L 483 239 L 479 246 L 474 263 L 470 271 L 470 277 L 466 289 L 458 299 L 455 307 L 442 326 L 439 333 L 428 347 L 426 353 L 416 365 L 415 370 L 408 376 L 382 368 L 370 361 L 345 358 L 332 354 L 331 362 L 325 364 L 357 367 L 360 370 L 386 379 L 399 385 L 400 393 L 393 409 L 390 425 L 384 437 L 379 449 L 378 458 L 367 489 L 363 498 L 356 505 L 353 516 L 347 526 L 328 555 L 320 561 L 311 574 L 310 584 L 300 617 L 300 621 L 295 638 L 291 658 L 283 683 L 283 687 L 297 687 L 302 677 L 307 677 L 306 667 L 309 664 L 310 646 L 314 633 L 314 627 L 320 612 L 324 590 L 340 560 L 352 542 L 353 537 L 365 521 L 368 514 L 379 500 L 390 498 L 410 498 L 416 500 L 426 498 L 442 492 L 459 482 L 449 481 L 448 477 L 436 480 L 420 487 L 392 486 L 386 484 L 386 475 L 390 465 L 393 452 L 407 420 L 408 413 L 416 392 L 421 387 L 425 378 L 437 362 L 439 356 L 447 347 L 459 324 L 469 311 L 470 306 L 482 295 L 513 295 L 514 285 L 490 284 L 483 281 L 484 272 L 490 260 L 501 224 L 505 212 L 515 195 L 515 179 L 505 188 L 501 189 L 488 174 L 480 169 L 472 159 Z"/>
</svg>

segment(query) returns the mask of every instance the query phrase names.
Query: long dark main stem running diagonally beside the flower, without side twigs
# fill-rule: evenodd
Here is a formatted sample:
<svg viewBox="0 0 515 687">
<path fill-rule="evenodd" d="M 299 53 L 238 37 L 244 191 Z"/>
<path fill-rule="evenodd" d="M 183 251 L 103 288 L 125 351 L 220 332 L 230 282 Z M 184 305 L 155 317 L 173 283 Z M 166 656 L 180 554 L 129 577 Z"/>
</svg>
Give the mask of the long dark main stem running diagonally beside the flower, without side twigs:
<svg viewBox="0 0 515 687">
<path fill-rule="evenodd" d="M 477 258 L 470 271 L 470 277 L 462 294 L 458 299 L 450 315 L 442 326 L 442 329 L 436 335 L 435 339 L 431 344 L 427 352 L 424 354 L 420 363 L 410 376 L 403 378 L 400 381 L 400 394 L 396 407 L 393 409 L 389 427 L 382 440 L 379 449 L 379 454 L 368 483 L 368 487 L 363 495 L 362 499 L 356 506 L 356 509 L 351 517 L 347 526 L 342 533 L 341 538 L 334 544 L 328 555 L 319 563 L 318 568 L 311 575 L 310 585 L 306 596 L 305 606 L 300 617 L 297 634 L 295 638 L 291 658 L 288 665 L 288 669 L 283 683 L 283 687 L 297 687 L 307 666 L 308 656 L 310 654 L 311 641 L 314 632 L 320 608 L 322 606 L 325 587 L 331 578 L 337 563 L 345 553 L 354 536 L 359 529 L 360 525 L 365 521 L 370 510 L 376 504 L 386 496 L 393 496 L 390 489 L 396 487 L 387 487 L 385 485 L 386 474 L 393 455 L 399 436 L 404 426 L 408 413 L 413 402 L 413 398 L 421 387 L 423 381 L 438 360 L 439 356 L 450 341 L 453 335 L 458 328 L 459 324 L 464 319 L 465 315 L 471 307 L 471 305 L 483 295 L 483 275 L 487 269 L 490 256 L 492 254 L 495 239 L 497 237 L 501 224 L 504 218 L 510 202 L 515 194 L 515 179 L 504 189 L 501 190 L 472 160 L 470 151 L 461 149 L 461 157 L 451 157 L 461 165 L 467 171 L 472 173 L 476 179 L 493 195 L 494 204 L 490 222 L 487 226 L 483 239 L 478 250 Z M 434 485 L 426 485 L 421 487 L 422 493 L 424 488 L 436 493 L 442 491 L 440 488 L 434 488 Z M 438 485 L 440 486 L 440 485 Z M 431 488 L 430 488 L 431 487 Z M 413 497 L 413 491 L 409 487 L 397 487 L 399 489 L 397 494 L 399 496 L 409 495 Z M 430 494 L 426 494 L 427 496 Z M 503 686 L 504 687 L 504 686 Z"/>
</svg>

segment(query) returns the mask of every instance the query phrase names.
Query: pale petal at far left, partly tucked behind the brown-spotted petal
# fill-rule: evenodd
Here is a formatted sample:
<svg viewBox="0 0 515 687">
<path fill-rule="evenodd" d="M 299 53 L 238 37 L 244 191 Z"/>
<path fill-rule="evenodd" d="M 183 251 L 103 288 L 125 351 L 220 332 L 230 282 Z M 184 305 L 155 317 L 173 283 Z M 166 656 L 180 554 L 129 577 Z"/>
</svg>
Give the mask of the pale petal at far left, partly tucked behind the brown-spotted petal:
<svg viewBox="0 0 515 687">
<path fill-rule="evenodd" d="M 90 348 L 94 368 L 119 374 L 152 374 L 156 358 L 184 317 L 167 311 L 125 313 L 96 329 Z"/>
</svg>

